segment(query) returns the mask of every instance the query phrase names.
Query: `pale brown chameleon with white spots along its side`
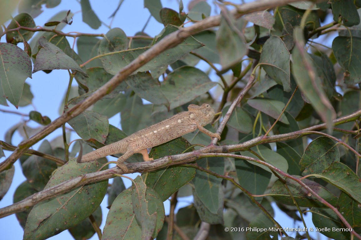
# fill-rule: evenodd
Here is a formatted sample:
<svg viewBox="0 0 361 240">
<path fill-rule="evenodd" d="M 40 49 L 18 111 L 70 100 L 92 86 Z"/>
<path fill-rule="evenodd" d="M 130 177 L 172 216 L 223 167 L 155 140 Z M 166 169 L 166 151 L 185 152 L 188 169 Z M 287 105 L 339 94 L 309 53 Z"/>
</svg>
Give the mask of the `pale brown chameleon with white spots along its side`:
<svg viewBox="0 0 361 240">
<path fill-rule="evenodd" d="M 117 166 L 126 173 L 128 168 L 124 161 L 134 153 L 142 154 L 144 161 L 153 161 L 153 158 L 149 158 L 147 148 L 161 145 L 184 134 L 193 132 L 197 128 L 211 138 L 218 138 L 220 140 L 221 136 L 219 134 L 210 132 L 203 127 L 212 122 L 213 118 L 214 110 L 209 104 L 204 103 L 201 106 L 190 104 L 188 111 L 175 114 L 122 140 L 87 153 L 83 157 L 78 158 L 77 162 L 89 162 L 108 155 L 123 153 L 117 160 Z"/>
</svg>

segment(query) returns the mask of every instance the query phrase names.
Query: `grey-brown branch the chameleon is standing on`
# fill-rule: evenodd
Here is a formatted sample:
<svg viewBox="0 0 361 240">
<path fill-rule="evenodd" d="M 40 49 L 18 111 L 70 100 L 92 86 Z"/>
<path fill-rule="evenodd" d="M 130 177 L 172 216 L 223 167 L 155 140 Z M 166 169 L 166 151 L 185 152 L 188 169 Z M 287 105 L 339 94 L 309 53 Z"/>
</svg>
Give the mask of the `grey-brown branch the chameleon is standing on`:
<svg viewBox="0 0 361 240">
<path fill-rule="evenodd" d="M 352 113 L 352 114 L 346 115 L 342 118 L 336 119 L 334 121 L 334 125 L 340 125 L 342 123 L 355 121 L 356 119 L 360 118 L 360 116 L 361 116 L 361 109 L 356 111 L 355 113 Z M 262 136 L 259 136 L 255 139 L 245 141 L 244 143 L 240 143 L 240 144 L 227 145 L 227 146 L 217 146 L 217 145 L 210 144 L 204 148 L 201 148 L 201 149 L 198 149 L 198 150 L 195 150 L 192 152 L 177 154 L 177 155 L 173 155 L 173 156 L 165 156 L 165 157 L 159 158 L 155 161 L 128 163 L 127 164 L 127 168 L 128 168 L 127 173 L 136 173 L 136 172 L 139 173 L 139 172 L 154 171 L 154 170 L 161 169 L 161 168 L 168 167 L 168 166 L 180 165 L 180 164 L 192 162 L 192 161 L 195 161 L 195 160 L 197 160 L 199 158 L 203 158 L 203 157 L 217 157 L 217 156 L 224 157 L 225 153 L 245 151 L 251 147 L 254 147 L 254 146 L 260 145 L 260 144 L 264 144 L 264 143 L 273 143 L 276 141 L 284 141 L 284 140 L 300 138 L 302 136 L 314 134 L 314 132 L 312 132 L 312 131 L 321 131 L 321 130 L 325 130 L 326 128 L 327 128 L 326 123 L 323 123 L 320 125 L 308 127 L 303 130 L 290 132 L 287 134 L 267 136 L 266 139 L 262 139 Z M 230 154 L 227 155 L 227 157 L 229 157 L 229 156 L 230 156 Z M 234 156 L 239 157 L 239 155 L 234 155 Z M 243 157 L 243 156 L 241 156 L 241 157 Z M 253 161 L 253 158 L 250 161 Z M 260 162 L 260 163 L 263 165 L 266 164 L 264 162 Z M 87 163 L 80 163 L 80 164 L 87 164 Z M 275 168 L 274 166 L 271 166 L 269 164 L 266 166 L 268 166 L 268 167 L 270 166 L 271 169 Z M 280 170 L 278 170 L 278 171 L 280 171 Z M 38 193 L 34 193 L 33 195 L 25 198 L 22 201 L 19 201 L 10 206 L 1 208 L 0 209 L 0 218 L 5 217 L 10 214 L 13 214 L 13 213 L 17 213 L 22 210 L 25 210 L 31 206 L 34 206 L 38 202 L 41 202 L 41 201 L 51 198 L 51 197 L 55 197 L 61 193 L 69 192 L 71 189 L 82 186 L 84 184 L 100 182 L 102 180 L 113 178 L 114 176 L 116 176 L 116 174 L 119 175 L 119 174 L 125 174 L 125 173 L 118 167 L 113 167 L 111 169 L 106 169 L 106 170 L 95 172 L 95 173 L 88 173 L 88 174 L 84 174 L 82 176 L 78 176 L 73 179 L 67 180 L 67 181 L 65 181 L 61 184 L 58 184 L 56 186 L 53 186 L 51 188 L 47 188 Z M 283 173 L 283 175 L 285 175 L 285 174 L 287 174 L 287 173 Z"/>
</svg>

